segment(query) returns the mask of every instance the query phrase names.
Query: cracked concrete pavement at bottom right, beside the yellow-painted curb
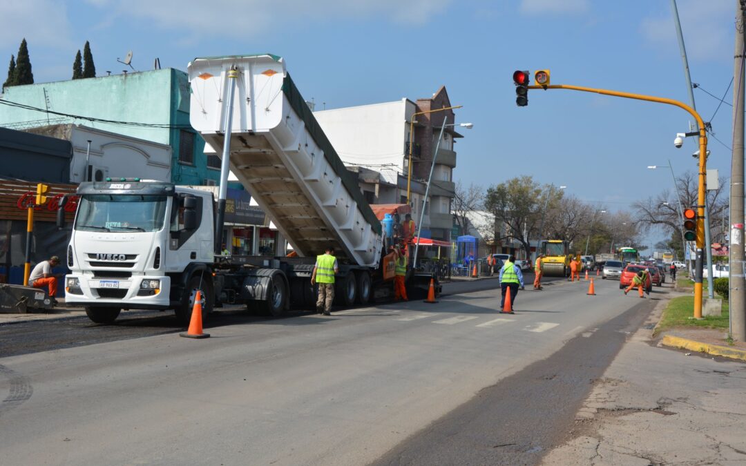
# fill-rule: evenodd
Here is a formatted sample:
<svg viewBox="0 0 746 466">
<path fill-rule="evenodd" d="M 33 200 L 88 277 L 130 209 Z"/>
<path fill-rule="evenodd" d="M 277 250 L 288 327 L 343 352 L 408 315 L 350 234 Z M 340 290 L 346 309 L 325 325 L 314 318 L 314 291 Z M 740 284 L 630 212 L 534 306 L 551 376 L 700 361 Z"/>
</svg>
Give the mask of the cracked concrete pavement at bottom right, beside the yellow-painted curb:
<svg viewBox="0 0 746 466">
<path fill-rule="evenodd" d="M 746 364 L 634 333 L 543 465 L 746 464 Z"/>
</svg>

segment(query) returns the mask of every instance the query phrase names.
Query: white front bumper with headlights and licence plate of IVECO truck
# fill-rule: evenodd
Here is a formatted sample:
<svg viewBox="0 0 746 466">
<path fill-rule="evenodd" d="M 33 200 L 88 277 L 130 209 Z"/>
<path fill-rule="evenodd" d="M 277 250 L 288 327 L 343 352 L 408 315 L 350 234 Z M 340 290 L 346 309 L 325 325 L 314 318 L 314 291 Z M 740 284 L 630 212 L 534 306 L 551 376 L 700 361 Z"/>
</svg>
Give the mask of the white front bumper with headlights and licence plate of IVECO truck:
<svg viewBox="0 0 746 466">
<path fill-rule="evenodd" d="M 63 284 L 67 306 L 170 308 L 171 277 L 133 276 L 109 279 L 70 274 L 65 277 Z"/>
</svg>

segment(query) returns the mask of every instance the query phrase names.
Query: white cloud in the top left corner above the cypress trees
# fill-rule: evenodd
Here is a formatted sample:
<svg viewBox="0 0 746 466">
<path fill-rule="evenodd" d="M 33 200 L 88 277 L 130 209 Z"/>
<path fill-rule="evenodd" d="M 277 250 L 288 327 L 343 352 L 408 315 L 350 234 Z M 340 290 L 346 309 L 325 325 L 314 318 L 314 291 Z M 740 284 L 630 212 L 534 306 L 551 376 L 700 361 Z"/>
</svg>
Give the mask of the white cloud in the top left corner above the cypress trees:
<svg viewBox="0 0 746 466">
<path fill-rule="evenodd" d="M 32 60 L 35 46 L 72 46 L 67 9 L 61 1 L 3 0 L 0 1 L 0 18 L 0 43 L 20 44 L 25 37 Z"/>
</svg>

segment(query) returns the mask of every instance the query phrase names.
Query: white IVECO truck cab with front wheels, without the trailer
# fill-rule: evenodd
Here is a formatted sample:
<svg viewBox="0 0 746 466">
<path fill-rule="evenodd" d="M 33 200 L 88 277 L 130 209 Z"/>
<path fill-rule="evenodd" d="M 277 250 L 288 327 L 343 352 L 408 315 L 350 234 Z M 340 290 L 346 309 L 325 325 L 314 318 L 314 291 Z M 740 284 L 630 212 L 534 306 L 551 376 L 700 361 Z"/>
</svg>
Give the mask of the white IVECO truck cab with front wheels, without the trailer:
<svg viewBox="0 0 746 466">
<path fill-rule="evenodd" d="M 197 289 L 212 306 L 213 199 L 172 183 L 81 183 L 67 248 L 65 300 L 94 322 L 121 309 L 175 309 L 188 321 Z M 60 223 L 58 217 L 58 223 Z"/>
</svg>

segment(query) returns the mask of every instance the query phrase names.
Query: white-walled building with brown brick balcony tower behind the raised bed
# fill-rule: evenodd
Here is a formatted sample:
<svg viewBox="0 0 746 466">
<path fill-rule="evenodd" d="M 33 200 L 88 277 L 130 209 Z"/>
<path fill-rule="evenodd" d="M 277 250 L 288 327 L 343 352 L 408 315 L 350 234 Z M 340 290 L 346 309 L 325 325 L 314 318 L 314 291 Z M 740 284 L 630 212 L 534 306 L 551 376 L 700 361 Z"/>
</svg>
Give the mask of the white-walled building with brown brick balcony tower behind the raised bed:
<svg viewBox="0 0 746 466">
<path fill-rule="evenodd" d="M 451 102 L 444 86 L 431 98 L 417 101 L 403 98 L 322 110 L 314 116 L 346 166 L 380 174 L 376 177 L 360 171 L 359 180 L 366 200 L 374 204 L 406 204 L 409 192 L 413 218 L 419 221 L 422 216 L 422 236 L 451 242 L 453 169 L 456 167 L 454 142 L 463 136 L 453 129 L 453 111 L 440 110 L 448 107 Z M 444 118 L 451 126 L 445 127 L 438 153 L 434 154 Z M 413 127 L 412 137 L 410 127 Z M 429 199 L 423 203 L 431 168 Z"/>
</svg>

